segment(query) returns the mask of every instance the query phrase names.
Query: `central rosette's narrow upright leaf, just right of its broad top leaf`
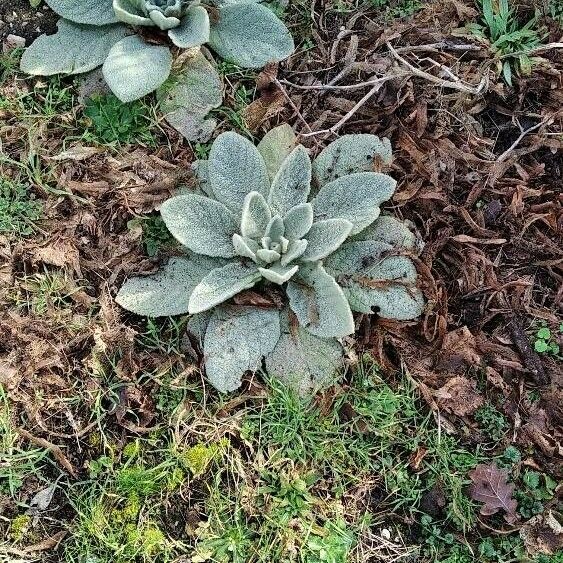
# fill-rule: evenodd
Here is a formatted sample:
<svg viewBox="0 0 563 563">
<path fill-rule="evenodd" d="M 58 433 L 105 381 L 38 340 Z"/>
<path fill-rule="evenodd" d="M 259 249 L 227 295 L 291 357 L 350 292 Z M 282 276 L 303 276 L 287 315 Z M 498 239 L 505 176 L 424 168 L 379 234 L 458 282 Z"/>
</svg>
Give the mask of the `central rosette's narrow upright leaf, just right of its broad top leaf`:
<svg viewBox="0 0 563 563">
<path fill-rule="evenodd" d="M 311 190 L 311 159 L 298 145 L 283 161 L 272 181 L 268 202 L 274 213 L 285 215 L 299 203 L 306 203 Z"/>
</svg>

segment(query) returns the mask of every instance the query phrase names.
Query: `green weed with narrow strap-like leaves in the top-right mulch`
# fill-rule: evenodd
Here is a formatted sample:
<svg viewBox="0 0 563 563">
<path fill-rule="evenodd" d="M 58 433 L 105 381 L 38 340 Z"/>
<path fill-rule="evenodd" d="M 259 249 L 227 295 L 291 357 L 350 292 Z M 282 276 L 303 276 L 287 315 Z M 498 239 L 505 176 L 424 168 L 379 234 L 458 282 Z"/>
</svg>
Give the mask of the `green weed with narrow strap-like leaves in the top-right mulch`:
<svg viewBox="0 0 563 563">
<path fill-rule="evenodd" d="M 514 72 L 530 74 L 533 66 L 531 51 L 541 44 L 542 32 L 537 29 L 538 17 L 522 25 L 509 0 L 481 0 L 483 24 L 471 24 L 468 29 L 489 42 L 502 69 L 502 75 L 512 86 Z"/>
</svg>

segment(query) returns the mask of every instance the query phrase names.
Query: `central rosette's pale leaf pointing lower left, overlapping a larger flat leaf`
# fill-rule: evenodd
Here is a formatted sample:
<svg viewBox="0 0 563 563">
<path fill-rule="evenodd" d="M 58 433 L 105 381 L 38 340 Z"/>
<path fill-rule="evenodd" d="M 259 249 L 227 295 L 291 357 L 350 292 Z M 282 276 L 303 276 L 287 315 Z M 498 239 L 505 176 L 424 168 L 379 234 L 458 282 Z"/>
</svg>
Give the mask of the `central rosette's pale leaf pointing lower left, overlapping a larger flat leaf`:
<svg viewBox="0 0 563 563">
<path fill-rule="evenodd" d="M 189 312 L 201 313 L 212 309 L 237 293 L 250 289 L 260 277 L 253 262 L 229 262 L 209 272 L 194 288 L 190 296 Z"/>
</svg>

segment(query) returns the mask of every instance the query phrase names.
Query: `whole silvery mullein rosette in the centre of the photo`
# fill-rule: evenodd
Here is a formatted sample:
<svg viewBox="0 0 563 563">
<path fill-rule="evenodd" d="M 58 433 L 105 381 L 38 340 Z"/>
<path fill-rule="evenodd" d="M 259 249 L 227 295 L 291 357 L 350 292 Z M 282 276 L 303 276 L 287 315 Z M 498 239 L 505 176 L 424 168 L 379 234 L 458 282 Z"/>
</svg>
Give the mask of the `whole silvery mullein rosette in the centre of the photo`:
<svg viewBox="0 0 563 563">
<path fill-rule="evenodd" d="M 416 237 L 380 216 L 396 182 L 372 170 L 374 157 L 390 162 L 389 141 L 344 135 L 314 162 L 295 145 L 287 125 L 258 147 L 219 135 L 197 163 L 200 192 L 160 209 L 186 256 L 130 278 L 117 295 L 139 315 L 191 314 L 207 378 L 223 392 L 264 360 L 299 390 L 317 388 L 342 365 L 339 339 L 354 332 L 352 311 L 408 320 L 424 307 L 410 257 Z M 284 308 L 229 302 L 257 284 L 284 288 Z"/>
</svg>

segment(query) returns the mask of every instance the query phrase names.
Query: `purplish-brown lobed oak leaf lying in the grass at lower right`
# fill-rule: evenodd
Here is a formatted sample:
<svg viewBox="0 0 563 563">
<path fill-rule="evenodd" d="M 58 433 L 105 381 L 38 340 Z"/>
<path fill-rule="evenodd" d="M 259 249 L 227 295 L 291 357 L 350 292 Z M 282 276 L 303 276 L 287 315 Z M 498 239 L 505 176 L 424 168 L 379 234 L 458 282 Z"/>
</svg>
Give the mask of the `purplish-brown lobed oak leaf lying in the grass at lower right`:
<svg viewBox="0 0 563 563">
<path fill-rule="evenodd" d="M 473 482 L 469 487 L 469 495 L 473 500 L 483 503 L 480 513 L 491 516 L 499 510 L 504 510 L 504 519 L 513 524 L 516 515 L 517 502 L 512 498 L 514 484 L 508 482 L 508 470 L 499 469 L 496 464 L 479 464 L 469 472 Z"/>
</svg>

